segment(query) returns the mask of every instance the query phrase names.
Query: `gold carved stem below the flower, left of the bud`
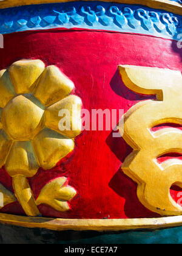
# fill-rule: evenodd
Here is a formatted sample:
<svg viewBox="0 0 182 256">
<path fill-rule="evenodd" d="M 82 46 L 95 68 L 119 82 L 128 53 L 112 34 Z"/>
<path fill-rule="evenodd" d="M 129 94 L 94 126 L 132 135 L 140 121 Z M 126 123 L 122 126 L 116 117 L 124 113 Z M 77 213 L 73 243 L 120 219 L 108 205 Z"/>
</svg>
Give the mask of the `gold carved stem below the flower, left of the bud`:
<svg viewBox="0 0 182 256">
<path fill-rule="evenodd" d="M 14 176 L 13 188 L 16 198 L 28 216 L 39 216 L 40 212 L 36 206 L 35 198 L 33 197 L 32 190 L 29 182 L 25 176 Z"/>
</svg>

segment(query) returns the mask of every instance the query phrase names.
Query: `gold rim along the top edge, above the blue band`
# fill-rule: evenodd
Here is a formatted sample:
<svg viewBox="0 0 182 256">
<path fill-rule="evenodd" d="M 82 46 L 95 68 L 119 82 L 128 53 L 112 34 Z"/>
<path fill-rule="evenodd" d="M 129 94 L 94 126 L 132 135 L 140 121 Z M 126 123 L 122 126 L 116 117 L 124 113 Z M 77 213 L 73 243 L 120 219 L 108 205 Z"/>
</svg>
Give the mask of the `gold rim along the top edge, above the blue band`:
<svg viewBox="0 0 182 256">
<path fill-rule="evenodd" d="M 0 9 L 30 5 L 30 4 L 49 4 L 55 2 L 72 2 L 73 0 L 0 0 Z M 76 0 L 77 1 L 77 0 Z M 87 1 L 87 0 L 84 0 Z M 91 0 L 95 1 L 95 0 Z M 173 12 L 182 15 L 182 5 L 175 1 L 169 0 L 102 0 L 104 2 L 120 2 L 123 4 L 140 4 L 154 9 L 163 9 L 168 12 Z"/>
</svg>

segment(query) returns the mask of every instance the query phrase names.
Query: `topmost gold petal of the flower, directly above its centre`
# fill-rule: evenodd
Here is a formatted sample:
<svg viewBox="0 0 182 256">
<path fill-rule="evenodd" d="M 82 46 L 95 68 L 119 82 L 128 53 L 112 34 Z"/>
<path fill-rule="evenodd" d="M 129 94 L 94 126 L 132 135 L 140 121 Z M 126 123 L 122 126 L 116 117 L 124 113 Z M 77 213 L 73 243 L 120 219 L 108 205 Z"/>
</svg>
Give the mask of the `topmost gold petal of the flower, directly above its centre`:
<svg viewBox="0 0 182 256">
<path fill-rule="evenodd" d="M 30 93 L 44 68 L 41 60 L 19 60 L 13 63 L 8 71 L 16 93 Z"/>
</svg>

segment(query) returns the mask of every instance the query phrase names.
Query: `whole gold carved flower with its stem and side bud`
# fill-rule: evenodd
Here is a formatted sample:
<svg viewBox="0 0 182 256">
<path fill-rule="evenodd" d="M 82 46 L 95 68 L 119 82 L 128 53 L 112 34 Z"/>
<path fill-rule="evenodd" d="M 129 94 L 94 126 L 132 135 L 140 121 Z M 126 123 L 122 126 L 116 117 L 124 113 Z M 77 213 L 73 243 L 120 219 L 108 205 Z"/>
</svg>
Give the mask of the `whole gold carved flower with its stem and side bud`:
<svg viewBox="0 0 182 256">
<path fill-rule="evenodd" d="M 69 96 L 73 88 L 59 68 L 45 68 L 41 60 L 19 60 L 0 71 L 0 167 L 5 165 L 13 178 L 16 198 L 29 216 L 40 213 L 27 177 L 35 176 L 39 167 L 53 168 L 73 151 L 72 138 L 81 133 L 81 99 Z M 61 133 L 55 106 L 75 109 L 70 113 L 73 132 Z M 67 201 L 75 194 L 61 177 L 42 188 L 38 204 L 45 203 L 46 197 L 47 205 L 66 211 L 70 209 Z"/>
</svg>

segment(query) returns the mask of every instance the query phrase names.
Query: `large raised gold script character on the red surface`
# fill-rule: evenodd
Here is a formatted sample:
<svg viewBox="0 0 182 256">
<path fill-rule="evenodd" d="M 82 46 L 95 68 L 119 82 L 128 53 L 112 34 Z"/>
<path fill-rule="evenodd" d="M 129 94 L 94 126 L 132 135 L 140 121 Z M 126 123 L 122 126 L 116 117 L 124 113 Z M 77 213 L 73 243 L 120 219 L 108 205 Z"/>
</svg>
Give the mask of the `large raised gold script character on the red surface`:
<svg viewBox="0 0 182 256">
<path fill-rule="evenodd" d="M 182 188 L 182 161 L 157 158 L 182 153 L 182 132 L 173 127 L 152 132 L 165 123 L 182 124 L 180 71 L 119 66 L 124 84 L 140 94 L 156 94 L 157 100 L 139 102 L 124 115 L 124 140 L 133 148 L 122 169 L 138 183 L 138 198 L 149 210 L 160 215 L 181 215 L 182 207 L 170 196 L 174 184 Z M 123 127 L 119 127 L 123 133 Z"/>
</svg>

